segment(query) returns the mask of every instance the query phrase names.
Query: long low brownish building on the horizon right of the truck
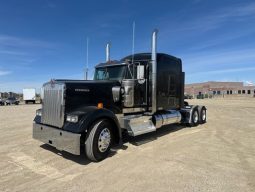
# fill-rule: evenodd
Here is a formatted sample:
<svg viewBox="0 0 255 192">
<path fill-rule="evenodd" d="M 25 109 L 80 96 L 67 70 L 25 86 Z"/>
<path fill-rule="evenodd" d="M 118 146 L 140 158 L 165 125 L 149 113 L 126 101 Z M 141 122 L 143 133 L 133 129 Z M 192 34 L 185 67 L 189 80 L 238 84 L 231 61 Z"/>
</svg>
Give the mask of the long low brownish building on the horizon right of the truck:
<svg viewBox="0 0 255 192">
<path fill-rule="evenodd" d="M 252 96 L 255 95 L 254 85 L 244 85 L 243 82 L 216 82 L 192 83 L 185 85 L 185 95 L 206 96 Z"/>
</svg>

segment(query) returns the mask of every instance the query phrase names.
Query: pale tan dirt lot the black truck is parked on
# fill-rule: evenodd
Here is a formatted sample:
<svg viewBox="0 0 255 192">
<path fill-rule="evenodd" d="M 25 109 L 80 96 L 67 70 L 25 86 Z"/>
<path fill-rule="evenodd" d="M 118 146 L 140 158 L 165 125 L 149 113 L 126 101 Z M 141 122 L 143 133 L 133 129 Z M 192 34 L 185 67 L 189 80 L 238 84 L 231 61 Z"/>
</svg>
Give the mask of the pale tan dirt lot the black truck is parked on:
<svg viewBox="0 0 255 192">
<path fill-rule="evenodd" d="M 99 163 L 33 140 L 40 105 L 0 106 L 0 191 L 255 191 L 255 99 L 191 103 L 207 124 L 129 139 Z"/>
</svg>

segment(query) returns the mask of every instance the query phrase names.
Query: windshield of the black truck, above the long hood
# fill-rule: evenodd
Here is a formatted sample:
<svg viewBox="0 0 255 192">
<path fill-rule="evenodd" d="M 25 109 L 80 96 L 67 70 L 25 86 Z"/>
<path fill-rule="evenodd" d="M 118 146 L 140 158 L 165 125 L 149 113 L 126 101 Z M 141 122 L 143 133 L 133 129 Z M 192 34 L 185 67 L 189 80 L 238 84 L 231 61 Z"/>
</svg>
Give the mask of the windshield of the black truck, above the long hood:
<svg viewBox="0 0 255 192">
<path fill-rule="evenodd" d="M 126 66 L 96 68 L 94 80 L 118 80 L 124 77 Z"/>
</svg>

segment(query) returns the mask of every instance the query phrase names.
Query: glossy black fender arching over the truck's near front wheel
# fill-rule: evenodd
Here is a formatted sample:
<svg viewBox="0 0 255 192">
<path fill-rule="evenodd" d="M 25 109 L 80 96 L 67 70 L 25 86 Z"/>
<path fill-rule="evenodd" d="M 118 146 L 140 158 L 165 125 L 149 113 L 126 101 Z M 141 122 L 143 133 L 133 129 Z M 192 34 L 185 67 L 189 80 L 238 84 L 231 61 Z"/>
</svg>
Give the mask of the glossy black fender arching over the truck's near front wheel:
<svg viewBox="0 0 255 192">
<path fill-rule="evenodd" d="M 115 131 L 117 131 L 118 141 L 121 141 L 121 127 L 119 125 L 119 121 L 116 115 L 105 108 L 98 109 L 95 106 L 87 106 L 82 110 L 73 111 L 68 113 L 67 115 L 78 115 L 79 121 L 77 123 L 66 122 L 63 129 L 66 131 L 74 132 L 74 133 L 85 133 L 88 131 L 90 126 L 98 119 L 109 119 L 115 125 Z"/>
</svg>

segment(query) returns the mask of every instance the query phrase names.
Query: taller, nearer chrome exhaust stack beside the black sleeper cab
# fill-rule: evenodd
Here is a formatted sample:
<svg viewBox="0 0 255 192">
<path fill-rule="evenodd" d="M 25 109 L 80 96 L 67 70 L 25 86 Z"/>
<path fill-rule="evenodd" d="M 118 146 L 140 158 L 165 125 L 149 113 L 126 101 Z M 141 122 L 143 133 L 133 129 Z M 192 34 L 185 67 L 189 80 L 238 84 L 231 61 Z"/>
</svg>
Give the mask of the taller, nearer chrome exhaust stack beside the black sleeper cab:
<svg viewBox="0 0 255 192">
<path fill-rule="evenodd" d="M 157 111 L 157 34 L 155 29 L 152 33 L 151 64 L 152 64 L 152 113 Z"/>
</svg>

